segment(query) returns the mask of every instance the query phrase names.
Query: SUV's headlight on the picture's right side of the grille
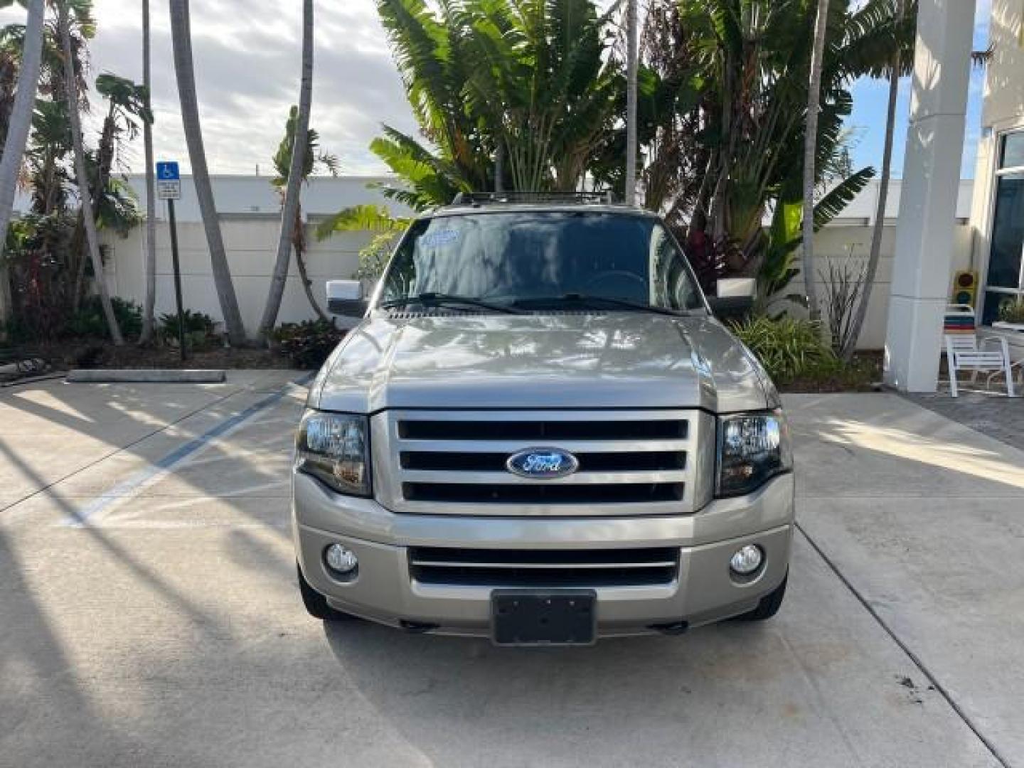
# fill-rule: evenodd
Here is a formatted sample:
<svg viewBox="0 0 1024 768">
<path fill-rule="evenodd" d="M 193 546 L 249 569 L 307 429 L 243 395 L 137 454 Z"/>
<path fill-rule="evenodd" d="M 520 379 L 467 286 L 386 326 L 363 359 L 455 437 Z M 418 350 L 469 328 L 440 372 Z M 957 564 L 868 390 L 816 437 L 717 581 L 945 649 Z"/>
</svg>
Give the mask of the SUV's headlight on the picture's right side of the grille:
<svg viewBox="0 0 1024 768">
<path fill-rule="evenodd" d="M 718 425 L 718 496 L 742 496 L 793 469 L 781 411 L 724 416 Z"/>
</svg>

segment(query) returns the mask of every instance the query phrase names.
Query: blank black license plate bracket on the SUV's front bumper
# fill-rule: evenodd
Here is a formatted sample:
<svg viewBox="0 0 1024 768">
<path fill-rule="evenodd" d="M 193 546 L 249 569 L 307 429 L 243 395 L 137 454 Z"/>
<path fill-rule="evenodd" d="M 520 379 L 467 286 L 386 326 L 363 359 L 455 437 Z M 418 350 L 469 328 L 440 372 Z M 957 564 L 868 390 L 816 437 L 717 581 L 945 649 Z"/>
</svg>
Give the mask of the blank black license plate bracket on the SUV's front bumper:
<svg viewBox="0 0 1024 768">
<path fill-rule="evenodd" d="M 490 630 L 496 645 L 593 645 L 594 590 L 495 590 Z"/>
</svg>

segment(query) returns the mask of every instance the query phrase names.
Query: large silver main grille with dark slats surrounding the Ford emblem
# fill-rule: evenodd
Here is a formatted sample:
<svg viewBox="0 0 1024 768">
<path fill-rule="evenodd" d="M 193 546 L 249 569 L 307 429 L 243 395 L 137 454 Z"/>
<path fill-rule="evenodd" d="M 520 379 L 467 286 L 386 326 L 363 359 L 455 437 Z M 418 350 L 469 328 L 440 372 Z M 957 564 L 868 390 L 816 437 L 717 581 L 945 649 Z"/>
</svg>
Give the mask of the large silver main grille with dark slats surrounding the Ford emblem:
<svg viewBox="0 0 1024 768">
<path fill-rule="evenodd" d="M 709 419 L 659 410 L 384 412 L 373 422 L 377 498 L 414 514 L 687 514 L 706 492 L 698 436 Z M 532 447 L 568 452 L 579 469 L 558 478 L 506 469 Z"/>
</svg>

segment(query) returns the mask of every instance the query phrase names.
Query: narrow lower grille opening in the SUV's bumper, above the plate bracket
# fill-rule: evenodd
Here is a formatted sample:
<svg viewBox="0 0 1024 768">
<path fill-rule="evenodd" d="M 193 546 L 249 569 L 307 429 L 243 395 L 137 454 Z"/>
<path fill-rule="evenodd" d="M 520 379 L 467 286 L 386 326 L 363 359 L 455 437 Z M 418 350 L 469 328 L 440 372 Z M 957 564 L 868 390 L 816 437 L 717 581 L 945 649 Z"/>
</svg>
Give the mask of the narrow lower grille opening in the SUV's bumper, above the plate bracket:
<svg viewBox="0 0 1024 768">
<path fill-rule="evenodd" d="M 410 573 L 421 584 L 481 587 L 635 587 L 672 584 L 673 547 L 496 550 L 414 547 Z"/>
</svg>

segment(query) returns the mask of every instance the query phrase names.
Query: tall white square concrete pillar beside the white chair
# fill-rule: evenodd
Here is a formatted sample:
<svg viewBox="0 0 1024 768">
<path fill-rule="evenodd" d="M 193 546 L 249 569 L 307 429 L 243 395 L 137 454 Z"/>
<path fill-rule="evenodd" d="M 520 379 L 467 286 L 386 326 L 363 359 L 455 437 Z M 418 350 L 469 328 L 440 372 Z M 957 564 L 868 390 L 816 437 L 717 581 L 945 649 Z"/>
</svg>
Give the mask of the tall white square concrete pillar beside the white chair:
<svg viewBox="0 0 1024 768">
<path fill-rule="evenodd" d="M 886 381 L 934 392 L 948 303 L 975 0 L 920 0 Z"/>
</svg>

